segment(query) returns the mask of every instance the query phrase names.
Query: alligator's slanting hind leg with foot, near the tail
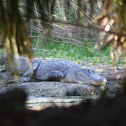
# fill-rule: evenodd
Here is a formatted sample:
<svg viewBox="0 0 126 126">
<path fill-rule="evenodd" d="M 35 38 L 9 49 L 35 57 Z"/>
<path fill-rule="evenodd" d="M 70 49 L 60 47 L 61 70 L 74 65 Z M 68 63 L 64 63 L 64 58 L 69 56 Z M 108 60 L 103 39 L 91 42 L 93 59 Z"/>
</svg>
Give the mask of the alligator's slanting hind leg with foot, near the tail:
<svg viewBox="0 0 126 126">
<path fill-rule="evenodd" d="M 23 82 L 29 82 L 32 80 L 32 76 L 34 74 L 34 71 L 38 68 L 39 63 L 34 63 L 31 68 L 29 68 L 21 77 L 21 83 Z"/>
</svg>

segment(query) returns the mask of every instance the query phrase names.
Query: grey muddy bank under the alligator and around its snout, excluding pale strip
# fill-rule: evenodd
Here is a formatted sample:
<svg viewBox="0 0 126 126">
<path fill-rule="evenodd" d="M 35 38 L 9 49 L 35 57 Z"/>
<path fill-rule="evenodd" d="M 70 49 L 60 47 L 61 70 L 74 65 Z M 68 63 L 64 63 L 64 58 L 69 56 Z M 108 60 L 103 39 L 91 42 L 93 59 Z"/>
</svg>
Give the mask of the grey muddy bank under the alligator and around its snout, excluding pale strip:
<svg viewBox="0 0 126 126">
<path fill-rule="evenodd" d="M 101 76 L 108 80 L 108 83 L 103 86 L 63 82 L 27 82 L 22 84 L 3 84 L 2 92 L 17 87 L 24 89 L 29 96 L 66 97 L 100 95 L 106 88 L 108 94 L 115 94 L 120 88 L 119 84 L 121 80 L 116 79 L 116 76 L 123 71 L 124 67 L 118 67 L 117 71 L 114 71 L 113 67 L 108 64 L 92 64 L 89 61 L 85 61 L 81 64 L 85 67 L 95 69 Z M 5 77 L 6 74 L 3 76 Z"/>
</svg>

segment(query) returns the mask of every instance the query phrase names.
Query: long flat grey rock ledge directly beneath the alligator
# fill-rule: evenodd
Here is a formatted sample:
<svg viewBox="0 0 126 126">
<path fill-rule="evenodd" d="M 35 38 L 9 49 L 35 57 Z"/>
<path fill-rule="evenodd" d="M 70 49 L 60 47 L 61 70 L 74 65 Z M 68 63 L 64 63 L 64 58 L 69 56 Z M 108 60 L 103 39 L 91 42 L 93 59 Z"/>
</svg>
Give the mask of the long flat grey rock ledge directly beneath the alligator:
<svg viewBox="0 0 126 126">
<path fill-rule="evenodd" d="M 2 92 L 15 87 L 24 89 L 30 96 L 37 97 L 87 96 L 99 94 L 103 90 L 100 87 L 80 83 L 27 82 L 22 84 L 7 85 L 2 89 Z"/>
</svg>

